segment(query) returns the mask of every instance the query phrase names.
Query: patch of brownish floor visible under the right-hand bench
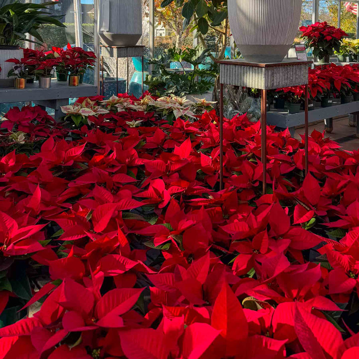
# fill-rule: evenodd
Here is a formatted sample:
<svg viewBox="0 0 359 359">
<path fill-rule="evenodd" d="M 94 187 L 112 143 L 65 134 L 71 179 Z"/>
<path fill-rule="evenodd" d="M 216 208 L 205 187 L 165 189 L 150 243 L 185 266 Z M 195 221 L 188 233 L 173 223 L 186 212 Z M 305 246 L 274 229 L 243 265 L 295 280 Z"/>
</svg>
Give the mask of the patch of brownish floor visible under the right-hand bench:
<svg viewBox="0 0 359 359">
<path fill-rule="evenodd" d="M 324 120 L 319 124 L 309 126 L 309 135 L 313 130 L 319 132 L 324 131 Z M 348 117 L 341 119 L 333 119 L 333 132 L 326 133 L 326 137 L 330 137 L 332 140 L 338 142 L 343 146 L 344 150 L 358 151 L 359 138 L 356 137 L 356 127 L 348 126 Z M 296 129 L 294 137 L 300 139 L 300 135 L 304 135 L 304 128 Z"/>
</svg>

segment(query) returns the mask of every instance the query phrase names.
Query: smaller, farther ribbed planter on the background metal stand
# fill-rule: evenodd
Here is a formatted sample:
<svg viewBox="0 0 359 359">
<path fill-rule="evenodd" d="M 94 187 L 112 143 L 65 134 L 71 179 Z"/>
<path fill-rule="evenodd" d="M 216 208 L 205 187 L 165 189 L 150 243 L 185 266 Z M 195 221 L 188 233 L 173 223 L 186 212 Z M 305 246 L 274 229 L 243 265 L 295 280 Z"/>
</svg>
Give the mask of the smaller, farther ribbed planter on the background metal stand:
<svg viewBox="0 0 359 359">
<path fill-rule="evenodd" d="M 142 35 L 141 0 L 101 0 L 98 33 L 109 46 L 135 46 Z"/>
</svg>

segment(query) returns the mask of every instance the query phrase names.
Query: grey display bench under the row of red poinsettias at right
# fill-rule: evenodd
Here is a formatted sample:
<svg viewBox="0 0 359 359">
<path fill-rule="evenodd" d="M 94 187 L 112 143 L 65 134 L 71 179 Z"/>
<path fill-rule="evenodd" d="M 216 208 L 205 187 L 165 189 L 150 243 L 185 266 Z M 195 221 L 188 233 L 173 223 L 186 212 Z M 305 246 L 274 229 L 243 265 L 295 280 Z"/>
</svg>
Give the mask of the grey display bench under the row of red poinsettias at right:
<svg viewBox="0 0 359 359">
<path fill-rule="evenodd" d="M 319 107 L 312 111 L 308 111 L 308 122 L 316 122 L 319 120 L 325 121 L 325 127 L 327 132 L 333 130 L 333 117 L 354 115 L 354 120 L 359 115 L 359 101 L 350 102 L 347 104 L 341 104 L 340 102 L 334 102 L 330 107 Z M 268 125 L 274 125 L 281 129 L 288 128 L 291 134 L 294 134 L 295 127 L 305 124 L 304 111 L 296 114 L 289 114 L 283 110 L 274 110 L 267 113 Z M 358 122 L 357 122 L 358 126 Z M 357 136 L 359 134 L 359 126 L 357 127 Z"/>
</svg>

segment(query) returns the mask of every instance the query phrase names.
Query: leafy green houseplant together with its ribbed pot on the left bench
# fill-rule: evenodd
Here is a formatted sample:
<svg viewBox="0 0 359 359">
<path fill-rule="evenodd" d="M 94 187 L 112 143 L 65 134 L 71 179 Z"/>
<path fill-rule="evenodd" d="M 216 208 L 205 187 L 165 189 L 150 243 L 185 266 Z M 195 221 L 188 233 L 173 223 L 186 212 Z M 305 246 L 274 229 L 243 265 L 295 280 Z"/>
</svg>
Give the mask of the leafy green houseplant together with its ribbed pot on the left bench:
<svg viewBox="0 0 359 359">
<path fill-rule="evenodd" d="M 20 45 L 24 41 L 41 43 L 42 38 L 38 30 L 45 24 L 53 24 L 64 27 L 60 21 L 61 15 L 49 14 L 48 6 L 56 2 L 44 2 L 41 4 L 19 2 L 18 0 L 0 7 L 0 63 L 3 71 L 0 74 L 0 87 L 13 86 L 13 78 L 7 78 L 11 64 L 5 60 L 9 58 L 22 58 L 23 50 Z M 26 38 L 29 34 L 35 40 Z"/>
</svg>

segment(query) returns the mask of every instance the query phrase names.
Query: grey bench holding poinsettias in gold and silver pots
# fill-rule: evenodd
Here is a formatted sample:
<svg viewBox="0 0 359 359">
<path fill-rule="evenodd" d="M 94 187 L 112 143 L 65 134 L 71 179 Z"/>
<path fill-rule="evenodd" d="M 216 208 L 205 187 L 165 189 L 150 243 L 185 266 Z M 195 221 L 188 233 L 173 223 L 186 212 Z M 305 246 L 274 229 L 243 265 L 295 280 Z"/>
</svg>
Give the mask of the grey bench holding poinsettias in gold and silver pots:
<svg viewBox="0 0 359 359">
<path fill-rule="evenodd" d="M 26 84 L 23 90 L 11 87 L 0 88 L 0 103 L 33 101 L 36 105 L 55 110 L 55 119 L 62 116 L 60 106 L 68 105 L 68 100 L 75 97 L 97 95 L 97 86 L 79 84 L 69 86 L 67 82 L 51 81 L 49 89 L 39 88 L 38 82 Z"/>
</svg>

